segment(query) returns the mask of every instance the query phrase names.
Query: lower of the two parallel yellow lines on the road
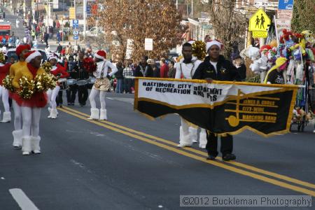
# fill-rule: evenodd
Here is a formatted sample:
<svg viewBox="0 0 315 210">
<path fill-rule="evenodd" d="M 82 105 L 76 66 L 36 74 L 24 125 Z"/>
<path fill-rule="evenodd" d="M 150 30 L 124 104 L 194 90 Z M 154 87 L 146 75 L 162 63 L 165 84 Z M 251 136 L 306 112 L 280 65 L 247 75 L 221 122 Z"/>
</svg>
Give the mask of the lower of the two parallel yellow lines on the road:
<svg viewBox="0 0 315 210">
<path fill-rule="evenodd" d="M 153 144 L 153 145 L 158 146 L 160 148 L 165 148 L 168 151 L 173 151 L 174 153 L 178 153 L 180 155 L 184 155 L 186 157 L 193 158 L 193 159 L 199 160 L 201 162 L 205 162 L 205 163 L 207 163 L 209 165 L 214 165 L 216 167 L 221 167 L 223 169 L 227 169 L 227 170 L 229 170 L 231 172 L 235 172 L 237 174 L 241 174 L 241 175 L 244 175 L 244 176 L 249 176 L 249 177 L 251 177 L 253 179 L 258 179 L 260 181 L 271 183 L 271 184 L 273 184 L 275 186 L 280 186 L 282 188 L 287 188 L 287 189 L 294 190 L 294 191 L 299 192 L 299 193 L 304 193 L 306 195 L 311 195 L 311 196 L 315 197 L 315 191 L 308 190 L 306 188 L 301 188 L 299 186 L 293 186 L 293 185 L 290 185 L 290 184 L 285 183 L 283 181 L 278 181 L 276 179 L 270 179 L 267 176 L 262 176 L 260 174 L 254 174 L 252 172 L 248 172 L 248 171 L 245 171 L 243 169 L 239 169 L 237 167 L 232 167 L 230 165 L 225 165 L 225 163 L 223 163 L 223 162 L 217 162 L 217 161 L 213 161 L 213 160 L 206 160 L 205 158 L 200 157 L 199 155 L 194 155 L 192 153 L 188 153 L 186 151 L 183 151 L 183 150 L 181 150 L 179 148 L 174 148 L 172 146 L 167 146 L 165 144 L 161 144 L 160 142 L 153 141 L 152 139 L 147 139 L 147 138 L 141 137 L 141 136 L 139 136 L 137 134 L 132 134 L 131 132 L 126 132 L 124 130 L 120 130 L 117 127 L 113 127 L 111 125 L 106 125 L 106 124 L 100 123 L 99 121 L 96 121 L 96 120 L 87 120 L 87 118 L 85 118 L 85 116 L 81 116 L 78 113 L 74 113 L 73 111 L 69 111 L 67 109 L 59 109 L 59 110 L 65 112 L 65 113 L 68 113 L 71 116 L 76 116 L 77 118 L 85 120 L 85 121 L 87 121 L 89 123 L 93 123 L 95 125 L 99 125 L 101 127 L 105 127 L 105 128 L 107 128 L 109 130 L 113 130 L 113 131 L 118 132 L 120 134 L 125 134 L 128 137 L 132 137 L 134 139 L 139 139 L 139 140 L 144 141 L 144 142 L 146 142 L 148 144 Z"/>
</svg>

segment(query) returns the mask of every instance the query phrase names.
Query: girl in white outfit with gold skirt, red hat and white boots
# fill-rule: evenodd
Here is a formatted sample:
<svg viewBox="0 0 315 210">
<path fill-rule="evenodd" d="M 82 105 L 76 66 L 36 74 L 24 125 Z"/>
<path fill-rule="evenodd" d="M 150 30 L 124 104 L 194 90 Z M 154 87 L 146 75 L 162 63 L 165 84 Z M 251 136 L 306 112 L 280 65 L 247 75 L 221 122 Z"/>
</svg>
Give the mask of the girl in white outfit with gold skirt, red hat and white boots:
<svg viewBox="0 0 315 210">
<path fill-rule="evenodd" d="M 93 74 L 97 80 L 95 81 L 89 96 L 91 104 L 91 116 L 88 119 L 107 120 L 105 95 L 111 86 L 109 78 L 111 78 L 111 76 L 113 76 L 113 74 L 115 74 L 118 69 L 111 62 L 106 60 L 106 52 L 104 50 L 97 51 L 94 56 L 94 61 L 97 64 L 97 70 L 94 71 Z M 109 68 L 111 68 L 111 73 L 108 72 Z M 95 97 L 98 93 L 99 101 L 101 102 L 100 116 L 99 109 L 97 109 L 95 103 Z"/>
</svg>

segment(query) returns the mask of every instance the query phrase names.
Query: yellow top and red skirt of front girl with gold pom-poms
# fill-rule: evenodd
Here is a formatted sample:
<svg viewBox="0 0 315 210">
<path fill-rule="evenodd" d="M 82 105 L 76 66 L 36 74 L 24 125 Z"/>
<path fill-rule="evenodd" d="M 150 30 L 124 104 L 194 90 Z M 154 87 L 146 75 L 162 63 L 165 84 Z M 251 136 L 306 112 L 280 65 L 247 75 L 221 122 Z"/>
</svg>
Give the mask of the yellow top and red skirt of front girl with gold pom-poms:
<svg viewBox="0 0 315 210">
<path fill-rule="evenodd" d="M 15 76 L 13 78 L 12 85 L 17 90 L 20 90 L 20 78 L 25 76 L 28 80 L 34 79 L 37 75 L 41 75 L 45 73 L 45 70 L 43 68 L 35 69 L 31 64 L 26 64 L 22 68 L 20 68 L 18 71 L 15 71 Z M 31 96 L 31 99 L 22 99 L 20 95 L 13 94 L 13 99 L 15 99 L 15 102 L 19 104 L 19 106 L 29 106 L 29 107 L 44 107 L 48 102 L 48 97 L 45 92 L 34 92 L 34 94 Z"/>
</svg>

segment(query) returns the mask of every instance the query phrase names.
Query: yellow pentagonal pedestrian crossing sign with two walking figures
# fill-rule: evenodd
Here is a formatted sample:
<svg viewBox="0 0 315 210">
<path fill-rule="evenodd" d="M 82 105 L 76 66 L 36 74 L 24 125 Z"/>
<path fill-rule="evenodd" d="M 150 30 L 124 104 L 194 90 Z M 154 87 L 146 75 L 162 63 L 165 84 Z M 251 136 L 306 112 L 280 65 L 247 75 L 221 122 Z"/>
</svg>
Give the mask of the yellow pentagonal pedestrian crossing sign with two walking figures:
<svg viewBox="0 0 315 210">
<path fill-rule="evenodd" d="M 259 9 L 251 19 L 249 19 L 248 31 L 267 31 L 271 20 L 264 10 Z"/>
</svg>

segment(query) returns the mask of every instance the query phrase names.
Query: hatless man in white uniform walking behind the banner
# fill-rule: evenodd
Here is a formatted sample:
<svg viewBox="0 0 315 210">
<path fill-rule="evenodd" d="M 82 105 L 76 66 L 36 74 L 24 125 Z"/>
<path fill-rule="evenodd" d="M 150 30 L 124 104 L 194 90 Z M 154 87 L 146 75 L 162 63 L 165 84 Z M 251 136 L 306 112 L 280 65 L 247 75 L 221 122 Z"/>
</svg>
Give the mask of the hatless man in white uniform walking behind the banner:
<svg viewBox="0 0 315 210">
<path fill-rule="evenodd" d="M 193 48 L 191 43 L 183 44 L 183 58 L 176 64 L 175 78 L 191 79 L 202 63 L 197 57 L 193 57 Z M 181 127 L 179 128 L 179 145 L 178 147 L 192 146 L 193 142 L 197 142 L 197 129 L 195 127 L 189 127 L 186 121 L 181 118 Z M 202 129 L 200 132 L 200 148 L 206 148 L 207 144 L 206 130 Z"/>
</svg>

